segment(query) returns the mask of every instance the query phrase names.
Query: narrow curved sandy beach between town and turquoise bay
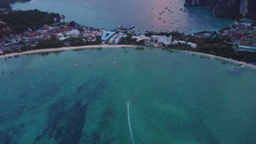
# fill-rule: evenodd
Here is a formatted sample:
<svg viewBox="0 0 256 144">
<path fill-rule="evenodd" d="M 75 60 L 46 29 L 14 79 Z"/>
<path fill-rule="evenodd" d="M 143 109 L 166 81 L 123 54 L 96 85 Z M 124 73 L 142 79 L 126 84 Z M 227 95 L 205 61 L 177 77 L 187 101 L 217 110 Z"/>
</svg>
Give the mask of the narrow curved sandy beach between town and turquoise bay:
<svg viewBox="0 0 256 144">
<path fill-rule="evenodd" d="M 56 52 L 56 51 L 67 51 L 67 50 L 77 50 L 77 49 L 92 49 L 92 48 L 107 48 L 107 47 L 148 47 L 148 46 L 137 46 L 137 45 L 86 45 L 86 46 L 71 46 L 71 47 L 58 47 L 58 48 L 50 48 L 50 49 L 38 49 L 38 50 L 31 50 L 31 51 L 25 51 L 25 52 L 20 52 L 20 53 L 9 53 L 7 55 L 1 55 L 0 58 L 6 58 L 6 57 L 13 57 L 13 56 L 20 56 L 20 55 L 28 55 L 31 53 L 43 53 L 43 52 Z M 162 47 L 155 47 L 158 49 L 169 49 L 169 48 L 162 48 Z M 172 50 L 172 49 L 171 49 Z M 222 61 L 229 61 L 233 62 L 235 64 L 243 64 L 247 67 L 256 69 L 256 65 L 252 65 L 246 62 L 239 62 L 234 59 L 230 58 L 225 58 L 225 57 L 219 57 L 219 56 L 214 56 L 210 55 L 207 53 L 200 53 L 200 52 L 193 52 L 193 51 L 183 51 L 183 50 L 177 50 L 177 51 L 182 51 L 182 52 L 187 52 L 187 53 L 194 53 L 196 55 L 202 55 L 202 56 L 208 56 L 210 58 L 219 58 Z"/>
</svg>

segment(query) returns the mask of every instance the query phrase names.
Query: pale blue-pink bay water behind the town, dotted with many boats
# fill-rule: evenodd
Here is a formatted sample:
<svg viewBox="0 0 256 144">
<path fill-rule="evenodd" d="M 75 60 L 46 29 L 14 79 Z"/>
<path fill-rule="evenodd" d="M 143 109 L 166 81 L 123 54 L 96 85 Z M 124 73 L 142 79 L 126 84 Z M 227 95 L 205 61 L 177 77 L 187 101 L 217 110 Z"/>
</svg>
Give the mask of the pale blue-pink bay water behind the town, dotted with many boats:
<svg viewBox="0 0 256 144">
<path fill-rule="evenodd" d="M 172 3 L 168 0 L 32 0 L 14 3 L 11 6 L 14 9 L 39 9 L 64 14 L 66 16 L 65 21 L 74 20 L 82 25 L 97 28 L 114 29 L 118 28 L 119 25 L 125 27 L 135 25 L 135 31 L 140 30 L 142 33 L 146 29 L 165 31 L 165 28 L 167 31 L 178 30 L 188 33 L 205 30 L 215 31 L 234 23 L 231 20 L 220 19 L 203 8 L 185 8 L 184 2 L 184 0 L 173 0 Z M 165 10 L 166 7 L 168 9 Z M 180 10 L 181 8 L 186 12 Z M 170 14 L 168 10 L 173 11 L 173 13 Z M 161 11 L 165 13 L 159 15 Z M 151 26 L 152 24 L 154 26 Z M 202 26 L 203 28 L 201 28 Z"/>
</svg>

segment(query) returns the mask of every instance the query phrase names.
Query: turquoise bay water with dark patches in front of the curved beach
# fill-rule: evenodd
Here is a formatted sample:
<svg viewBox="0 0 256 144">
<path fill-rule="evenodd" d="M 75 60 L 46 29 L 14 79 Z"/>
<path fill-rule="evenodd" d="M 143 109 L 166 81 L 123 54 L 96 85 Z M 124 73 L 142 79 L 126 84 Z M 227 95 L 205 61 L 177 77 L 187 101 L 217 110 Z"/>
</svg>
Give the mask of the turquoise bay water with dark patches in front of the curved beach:
<svg viewBox="0 0 256 144">
<path fill-rule="evenodd" d="M 0 59 L 0 143 L 132 143 L 126 100 L 134 143 L 256 141 L 256 70 L 180 51 L 124 51 Z"/>
</svg>

